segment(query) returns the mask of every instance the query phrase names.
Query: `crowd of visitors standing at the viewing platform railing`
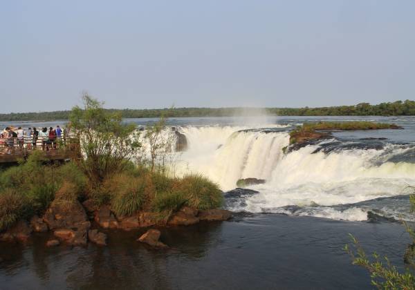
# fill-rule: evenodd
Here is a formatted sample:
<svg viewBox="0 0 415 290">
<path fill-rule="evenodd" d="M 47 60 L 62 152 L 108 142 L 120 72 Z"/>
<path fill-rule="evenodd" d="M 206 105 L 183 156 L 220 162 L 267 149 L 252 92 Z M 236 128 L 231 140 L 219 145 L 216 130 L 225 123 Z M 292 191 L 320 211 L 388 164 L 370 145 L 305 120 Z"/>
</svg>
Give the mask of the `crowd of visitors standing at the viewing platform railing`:
<svg viewBox="0 0 415 290">
<path fill-rule="evenodd" d="M 37 146 L 42 146 L 42 150 L 48 151 L 57 148 L 58 140 L 63 139 L 65 141 L 69 135 L 69 126 L 66 126 L 63 130 L 59 126 L 56 126 L 56 128 L 50 127 L 49 129 L 44 127 L 39 131 L 35 127 L 23 129 L 10 126 L 4 128 L 3 132 L 0 133 L 0 146 L 4 146 L 6 154 L 10 154 L 15 147 L 35 149 Z"/>
</svg>

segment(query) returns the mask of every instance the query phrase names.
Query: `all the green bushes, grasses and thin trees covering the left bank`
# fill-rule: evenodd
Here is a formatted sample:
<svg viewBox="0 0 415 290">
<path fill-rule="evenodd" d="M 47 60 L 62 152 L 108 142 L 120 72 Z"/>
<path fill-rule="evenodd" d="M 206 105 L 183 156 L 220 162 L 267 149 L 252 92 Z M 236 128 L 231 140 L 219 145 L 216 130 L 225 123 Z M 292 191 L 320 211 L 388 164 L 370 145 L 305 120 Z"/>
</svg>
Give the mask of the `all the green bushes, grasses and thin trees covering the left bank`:
<svg viewBox="0 0 415 290">
<path fill-rule="evenodd" d="M 50 164 L 42 151 L 33 152 L 18 166 L 0 172 L 0 232 L 18 220 L 42 216 L 52 203 L 93 200 L 109 205 L 118 216 L 138 211 L 155 213 L 167 222 L 182 206 L 217 209 L 223 195 L 206 177 L 175 177 L 167 168 L 172 144 L 160 137 L 164 120 L 150 133 L 122 123 L 120 113 L 84 95 L 84 107 L 71 112 L 71 131 L 80 139 L 83 157 L 66 164 Z M 157 137 L 156 137 L 157 136 Z M 151 138 L 151 157 L 145 150 Z M 148 141 L 148 140 L 147 140 Z"/>
</svg>

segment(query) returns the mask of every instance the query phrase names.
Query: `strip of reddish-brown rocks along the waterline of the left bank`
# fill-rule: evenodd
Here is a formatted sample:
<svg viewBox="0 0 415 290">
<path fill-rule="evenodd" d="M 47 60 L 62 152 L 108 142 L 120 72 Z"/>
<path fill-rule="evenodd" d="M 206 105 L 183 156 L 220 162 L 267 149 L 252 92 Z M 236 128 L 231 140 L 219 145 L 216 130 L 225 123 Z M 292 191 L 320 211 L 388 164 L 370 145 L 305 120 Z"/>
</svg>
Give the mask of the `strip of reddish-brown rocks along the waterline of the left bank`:
<svg viewBox="0 0 415 290">
<path fill-rule="evenodd" d="M 19 220 L 7 231 L 0 233 L 0 242 L 26 242 L 32 233 L 53 233 L 53 238 L 46 242 L 47 247 L 59 244 L 71 246 L 86 246 L 93 242 L 100 246 L 107 245 L 107 235 L 102 229 L 120 229 L 131 231 L 157 226 L 189 226 L 201 221 L 224 221 L 232 218 L 232 213 L 224 209 L 199 211 L 189 206 L 183 206 L 174 213 L 167 222 L 158 219 L 156 213 L 141 211 L 128 217 L 118 217 L 111 211 L 110 206 L 96 206 L 93 200 L 82 204 L 75 202 L 53 202 L 46 213 L 40 218 L 34 215 L 30 221 Z M 160 230 L 149 229 L 138 238 L 139 242 L 149 244 L 155 249 L 166 248 L 159 241 Z"/>
</svg>

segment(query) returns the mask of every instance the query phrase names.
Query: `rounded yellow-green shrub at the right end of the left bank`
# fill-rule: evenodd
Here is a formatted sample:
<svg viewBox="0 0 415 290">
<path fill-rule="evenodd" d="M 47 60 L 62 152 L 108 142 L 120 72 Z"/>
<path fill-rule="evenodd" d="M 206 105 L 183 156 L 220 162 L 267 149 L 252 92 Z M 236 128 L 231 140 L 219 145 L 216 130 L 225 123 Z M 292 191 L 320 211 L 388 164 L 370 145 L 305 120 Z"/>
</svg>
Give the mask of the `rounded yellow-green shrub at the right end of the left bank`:
<svg viewBox="0 0 415 290">
<path fill-rule="evenodd" d="M 223 195 L 219 186 L 199 174 L 185 175 L 178 185 L 179 191 L 194 209 L 216 209 L 222 206 Z"/>
</svg>

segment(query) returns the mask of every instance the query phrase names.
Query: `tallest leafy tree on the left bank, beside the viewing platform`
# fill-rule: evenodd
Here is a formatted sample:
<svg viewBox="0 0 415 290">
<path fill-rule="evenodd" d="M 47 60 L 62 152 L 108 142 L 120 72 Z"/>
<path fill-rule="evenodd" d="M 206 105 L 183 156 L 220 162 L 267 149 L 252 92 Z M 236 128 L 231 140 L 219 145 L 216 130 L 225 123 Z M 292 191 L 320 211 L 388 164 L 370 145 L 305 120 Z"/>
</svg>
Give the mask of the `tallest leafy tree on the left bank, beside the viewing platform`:
<svg viewBox="0 0 415 290">
<path fill-rule="evenodd" d="M 78 163 L 94 188 L 120 173 L 140 151 L 141 143 L 136 125 L 123 124 L 120 113 L 109 113 L 86 93 L 82 100 L 84 108 L 72 109 L 71 131 L 79 138 L 84 156 Z"/>
</svg>

